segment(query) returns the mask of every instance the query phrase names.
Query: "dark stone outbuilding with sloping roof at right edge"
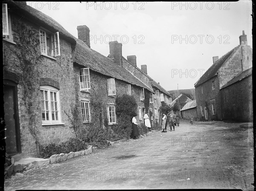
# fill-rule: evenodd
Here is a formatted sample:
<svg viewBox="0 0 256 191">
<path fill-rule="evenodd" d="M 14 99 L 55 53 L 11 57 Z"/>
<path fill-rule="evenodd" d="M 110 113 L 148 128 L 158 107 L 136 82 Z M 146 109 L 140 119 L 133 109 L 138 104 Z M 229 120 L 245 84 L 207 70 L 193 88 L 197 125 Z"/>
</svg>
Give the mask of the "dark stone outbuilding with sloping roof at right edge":
<svg viewBox="0 0 256 191">
<path fill-rule="evenodd" d="M 220 90 L 223 120 L 253 122 L 252 68 L 244 70 Z"/>
</svg>

